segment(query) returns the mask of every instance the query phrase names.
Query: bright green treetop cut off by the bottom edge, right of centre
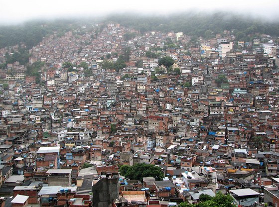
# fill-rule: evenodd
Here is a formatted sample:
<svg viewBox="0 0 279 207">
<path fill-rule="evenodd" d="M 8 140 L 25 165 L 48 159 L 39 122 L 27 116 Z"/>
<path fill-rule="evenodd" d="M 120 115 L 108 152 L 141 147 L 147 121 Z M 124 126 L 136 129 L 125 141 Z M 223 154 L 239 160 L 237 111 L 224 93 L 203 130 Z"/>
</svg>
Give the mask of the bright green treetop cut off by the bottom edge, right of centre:
<svg viewBox="0 0 279 207">
<path fill-rule="evenodd" d="M 215 197 L 208 195 L 200 195 L 200 203 L 198 204 L 189 204 L 181 203 L 178 207 L 236 207 L 233 204 L 233 197 L 230 195 L 223 195 L 221 192 L 218 192 Z"/>
</svg>

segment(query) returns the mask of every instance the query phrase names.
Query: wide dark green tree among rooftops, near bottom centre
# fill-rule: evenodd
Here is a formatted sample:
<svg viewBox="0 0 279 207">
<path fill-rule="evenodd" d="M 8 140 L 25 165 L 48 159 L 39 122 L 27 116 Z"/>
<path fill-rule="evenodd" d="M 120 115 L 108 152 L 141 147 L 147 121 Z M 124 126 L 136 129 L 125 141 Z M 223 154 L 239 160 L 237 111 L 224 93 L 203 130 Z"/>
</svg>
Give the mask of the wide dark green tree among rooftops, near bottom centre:
<svg viewBox="0 0 279 207">
<path fill-rule="evenodd" d="M 139 180 L 143 181 L 145 177 L 153 177 L 155 180 L 162 180 L 164 174 L 161 171 L 161 168 L 145 163 L 137 163 L 133 166 L 123 165 L 119 169 L 120 175 L 130 180 Z"/>
</svg>

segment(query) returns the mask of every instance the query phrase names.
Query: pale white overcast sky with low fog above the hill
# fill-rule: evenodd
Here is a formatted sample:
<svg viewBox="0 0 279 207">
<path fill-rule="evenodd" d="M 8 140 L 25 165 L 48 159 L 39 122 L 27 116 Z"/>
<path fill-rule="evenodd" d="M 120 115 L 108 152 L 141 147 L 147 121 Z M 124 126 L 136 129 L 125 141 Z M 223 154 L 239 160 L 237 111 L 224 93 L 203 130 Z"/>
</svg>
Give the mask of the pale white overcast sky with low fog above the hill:
<svg viewBox="0 0 279 207">
<path fill-rule="evenodd" d="M 103 16 L 125 11 L 169 14 L 195 9 L 235 11 L 277 19 L 279 0 L 0 0 L 0 24 L 41 18 Z"/>
</svg>

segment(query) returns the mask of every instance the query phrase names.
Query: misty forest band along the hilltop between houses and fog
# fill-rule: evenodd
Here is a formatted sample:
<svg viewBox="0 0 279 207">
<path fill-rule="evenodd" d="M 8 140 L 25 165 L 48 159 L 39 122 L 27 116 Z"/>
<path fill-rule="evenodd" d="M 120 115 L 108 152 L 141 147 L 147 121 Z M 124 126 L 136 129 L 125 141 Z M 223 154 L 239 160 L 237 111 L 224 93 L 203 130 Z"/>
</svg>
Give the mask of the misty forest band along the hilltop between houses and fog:
<svg viewBox="0 0 279 207">
<path fill-rule="evenodd" d="M 101 23 L 100 23 L 101 22 Z M 24 43 L 27 48 L 37 45 L 44 36 L 53 32 L 63 35 L 71 29 L 93 29 L 92 25 L 120 23 L 123 26 L 145 31 L 183 32 L 193 37 L 212 38 L 224 30 L 233 31 L 236 40 L 249 41 L 259 34 L 279 36 L 279 21 L 272 22 L 260 18 L 240 16 L 232 13 L 216 12 L 183 13 L 171 16 L 136 16 L 132 14 L 110 15 L 102 18 L 60 19 L 25 22 L 20 25 L 0 26 L 0 48 Z"/>
</svg>

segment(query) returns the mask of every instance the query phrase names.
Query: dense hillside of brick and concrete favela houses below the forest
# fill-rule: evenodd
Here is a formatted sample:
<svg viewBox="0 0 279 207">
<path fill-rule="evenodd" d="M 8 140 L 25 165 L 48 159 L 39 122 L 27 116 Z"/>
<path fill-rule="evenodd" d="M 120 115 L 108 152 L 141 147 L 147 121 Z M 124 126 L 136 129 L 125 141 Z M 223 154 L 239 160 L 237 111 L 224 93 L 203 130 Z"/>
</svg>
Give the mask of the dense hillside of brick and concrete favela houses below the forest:
<svg viewBox="0 0 279 207">
<path fill-rule="evenodd" d="M 278 207 L 278 37 L 92 28 L 0 49 L 1 207 Z"/>
</svg>

